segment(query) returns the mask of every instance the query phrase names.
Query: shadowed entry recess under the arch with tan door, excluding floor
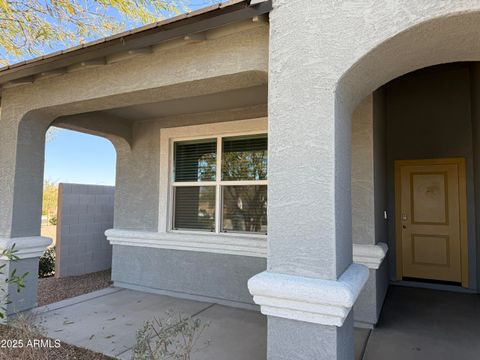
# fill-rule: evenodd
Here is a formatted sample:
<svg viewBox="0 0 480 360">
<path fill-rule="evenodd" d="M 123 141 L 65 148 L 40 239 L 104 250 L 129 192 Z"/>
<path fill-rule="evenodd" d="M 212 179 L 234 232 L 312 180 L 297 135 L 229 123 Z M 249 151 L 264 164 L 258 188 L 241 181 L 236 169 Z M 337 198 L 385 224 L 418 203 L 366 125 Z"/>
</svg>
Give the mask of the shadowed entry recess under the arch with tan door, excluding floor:
<svg viewBox="0 0 480 360">
<path fill-rule="evenodd" d="M 411 72 L 376 90 L 354 112 L 353 236 L 360 243 L 368 236 L 388 243 L 391 280 L 477 289 L 477 67 L 461 62 Z M 365 152 L 370 157 L 363 157 Z M 403 174 L 401 168 L 409 166 L 413 172 Z M 443 166 L 455 167 L 456 175 L 436 178 Z M 442 171 L 448 173 L 447 168 Z M 358 184 L 362 172 L 370 172 L 370 199 Z M 371 217 L 358 211 L 366 201 L 375 208 Z M 365 223 L 373 226 L 362 229 Z M 455 229 L 442 228 L 452 224 Z M 443 240 L 415 241 L 417 232 Z M 432 267 L 427 266 L 430 262 Z"/>
</svg>

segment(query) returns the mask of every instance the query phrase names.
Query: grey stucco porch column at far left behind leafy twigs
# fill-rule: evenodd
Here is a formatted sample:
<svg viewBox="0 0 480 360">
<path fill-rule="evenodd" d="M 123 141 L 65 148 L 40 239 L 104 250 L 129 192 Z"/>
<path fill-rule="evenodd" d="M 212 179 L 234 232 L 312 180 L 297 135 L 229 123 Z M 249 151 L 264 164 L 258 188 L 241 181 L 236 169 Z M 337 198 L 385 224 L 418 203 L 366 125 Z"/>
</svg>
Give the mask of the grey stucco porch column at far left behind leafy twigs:
<svg viewBox="0 0 480 360">
<path fill-rule="evenodd" d="M 14 109 L 2 99 L 0 118 L 0 250 L 15 244 L 20 259 L 5 264 L 0 286 L 8 300 L 7 313 L 26 310 L 36 305 L 38 259 L 51 239 L 40 236 L 45 131 L 45 118 L 13 114 Z M 16 269 L 18 275 L 28 272 L 26 287 L 19 293 L 4 279 Z M 3 295 L 2 295 L 3 297 Z M 2 304 L 3 305 L 3 304 Z"/>
</svg>

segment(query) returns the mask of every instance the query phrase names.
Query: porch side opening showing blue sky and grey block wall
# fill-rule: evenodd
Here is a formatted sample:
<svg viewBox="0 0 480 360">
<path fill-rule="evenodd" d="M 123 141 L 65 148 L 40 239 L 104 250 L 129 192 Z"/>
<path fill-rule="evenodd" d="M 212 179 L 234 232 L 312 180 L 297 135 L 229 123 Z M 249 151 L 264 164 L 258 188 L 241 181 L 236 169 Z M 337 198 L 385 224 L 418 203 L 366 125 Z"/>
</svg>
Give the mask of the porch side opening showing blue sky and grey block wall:
<svg viewBox="0 0 480 360">
<path fill-rule="evenodd" d="M 113 227 L 115 165 L 108 139 L 47 131 L 41 235 L 53 242 L 40 258 L 39 305 L 109 286 L 112 248 L 104 233 Z"/>
</svg>

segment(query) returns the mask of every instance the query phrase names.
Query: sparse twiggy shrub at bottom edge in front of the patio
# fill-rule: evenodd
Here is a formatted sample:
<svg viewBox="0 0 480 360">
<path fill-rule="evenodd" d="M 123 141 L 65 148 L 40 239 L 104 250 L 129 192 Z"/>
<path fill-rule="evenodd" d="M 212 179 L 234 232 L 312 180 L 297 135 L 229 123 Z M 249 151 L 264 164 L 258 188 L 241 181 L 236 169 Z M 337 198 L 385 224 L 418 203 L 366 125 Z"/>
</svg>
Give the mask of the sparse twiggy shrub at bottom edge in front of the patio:
<svg viewBox="0 0 480 360">
<path fill-rule="evenodd" d="M 197 343 L 207 327 L 200 319 L 172 313 L 166 319 L 146 321 L 137 331 L 132 360 L 190 360 L 192 353 L 202 349 Z"/>
</svg>

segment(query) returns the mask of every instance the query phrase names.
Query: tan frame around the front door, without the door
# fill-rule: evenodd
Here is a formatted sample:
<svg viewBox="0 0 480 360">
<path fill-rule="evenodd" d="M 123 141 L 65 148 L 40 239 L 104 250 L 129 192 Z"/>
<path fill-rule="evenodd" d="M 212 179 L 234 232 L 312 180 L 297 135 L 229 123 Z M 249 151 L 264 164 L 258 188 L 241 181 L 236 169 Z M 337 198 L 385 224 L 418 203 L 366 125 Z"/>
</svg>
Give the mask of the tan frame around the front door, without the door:
<svg viewBox="0 0 480 360">
<path fill-rule="evenodd" d="M 400 168 L 402 166 L 418 165 L 446 165 L 455 164 L 458 166 L 458 196 L 460 208 L 460 254 L 461 254 L 461 273 L 462 287 L 468 288 L 468 227 L 467 227 L 467 178 L 465 172 L 465 158 L 439 158 L 439 159 L 420 159 L 420 160 L 395 160 L 395 250 L 397 261 L 397 280 L 403 278 L 403 252 L 402 252 L 402 226 L 401 226 L 401 176 Z"/>
</svg>

